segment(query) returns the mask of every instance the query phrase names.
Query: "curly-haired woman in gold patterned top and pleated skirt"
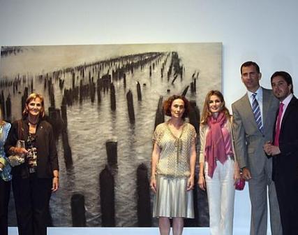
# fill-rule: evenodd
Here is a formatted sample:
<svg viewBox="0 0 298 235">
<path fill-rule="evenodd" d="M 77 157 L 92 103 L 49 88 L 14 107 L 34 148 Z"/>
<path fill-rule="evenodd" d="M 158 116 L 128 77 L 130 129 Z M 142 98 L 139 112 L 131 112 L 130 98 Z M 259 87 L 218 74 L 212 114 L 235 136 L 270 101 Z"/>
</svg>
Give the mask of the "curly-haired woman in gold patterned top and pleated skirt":
<svg viewBox="0 0 298 235">
<path fill-rule="evenodd" d="M 184 218 L 194 218 L 195 127 L 184 122 L 189 102 L 173 95 L 164 102 L 170 120 L 158 124 L 153 135 L 151 190 L 155 193 L 153 216 L 161 234 L 182 234 Z"/>
</svg>

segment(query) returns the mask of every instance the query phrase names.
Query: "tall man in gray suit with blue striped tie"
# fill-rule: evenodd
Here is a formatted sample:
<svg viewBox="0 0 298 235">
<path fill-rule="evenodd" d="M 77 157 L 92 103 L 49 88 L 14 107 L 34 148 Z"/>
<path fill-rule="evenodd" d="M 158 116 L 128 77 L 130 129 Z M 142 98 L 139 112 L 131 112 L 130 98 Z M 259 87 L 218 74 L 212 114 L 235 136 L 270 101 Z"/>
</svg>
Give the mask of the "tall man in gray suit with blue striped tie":
<svg viewBox="0 0 298 235">
<path fill-rule="evenodd" d="M 272 176 L 272 160 L 263 145 L 272 141 L 278 100 L 271 90 L 260 87 L 262 74 L 255 62 L 241 65 L 241 79 L 247 92 L 232 104 L 234 145 L 243 177 L 248 180 L 251 198 L 251 235 L 267 234 L 267 191 L 271 234 L 282 234 L 281 218 Z"/>
</svg>

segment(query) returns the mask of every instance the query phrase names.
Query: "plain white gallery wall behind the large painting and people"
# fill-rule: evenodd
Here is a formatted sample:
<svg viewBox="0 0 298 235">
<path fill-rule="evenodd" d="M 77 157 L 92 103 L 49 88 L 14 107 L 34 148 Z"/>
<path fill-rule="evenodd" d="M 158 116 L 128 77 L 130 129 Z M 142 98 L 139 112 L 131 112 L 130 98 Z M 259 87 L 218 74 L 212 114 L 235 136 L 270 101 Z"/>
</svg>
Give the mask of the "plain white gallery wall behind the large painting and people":
<svg viewBox="0 0 298 235">
<path fill-rule="evenodd" d="M 297 9 L 296 0 L 0 0 L 0 45 L 222 42 L 230 108 L 246 92 L 239 72 L 246 60 L 260 65 L 263 86 L 284 70 L 298 89 Z M 246 187 L 234 222 L 244 234 L 249 204 Z"/>
</svg>

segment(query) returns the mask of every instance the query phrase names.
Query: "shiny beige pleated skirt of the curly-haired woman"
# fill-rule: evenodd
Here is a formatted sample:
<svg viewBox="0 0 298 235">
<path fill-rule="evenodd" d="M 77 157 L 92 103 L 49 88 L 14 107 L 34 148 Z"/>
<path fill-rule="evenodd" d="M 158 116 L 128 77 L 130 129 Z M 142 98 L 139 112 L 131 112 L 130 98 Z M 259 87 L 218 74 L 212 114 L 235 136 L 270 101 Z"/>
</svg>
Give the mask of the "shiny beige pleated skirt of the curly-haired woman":
<svg viewBox="0 0 298 235">
<path fill-rule="evenodd" d="M 187 180 L 157 176 L 153 217 L 195 218 L 193 190 L 186 191 Z"/>
</svg>

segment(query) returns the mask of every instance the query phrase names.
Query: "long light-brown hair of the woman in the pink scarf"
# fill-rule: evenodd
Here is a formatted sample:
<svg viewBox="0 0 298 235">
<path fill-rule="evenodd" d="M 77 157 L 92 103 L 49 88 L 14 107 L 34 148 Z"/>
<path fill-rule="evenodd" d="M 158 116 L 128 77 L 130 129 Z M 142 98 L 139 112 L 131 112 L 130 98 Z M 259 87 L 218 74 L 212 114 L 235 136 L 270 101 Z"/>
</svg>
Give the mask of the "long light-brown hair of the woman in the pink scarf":
<svg viewBox="0 0 298 235">
<path fill-rule="evenodd" d="M 218 90 L 211 90 L 210 92 L 207 93 L 206 99 L 204 101 L 201 124 L 207 124 L 208 118 L 212 115 L 211 112 L 209 111 L 209 101 L 210 101 L 210 97 L 213 95 L 218 97 L 221 100 L 221 102 L 223 102 L 223 108 L 221 112 L 225 113 L 225 118 L 227 118 L 227 120 L 230 121 L 230 112 L 228 108 L 225 107 L 225 100 L 223 99 L 223 94 L 221 94 L 221 92 Z"/>
</svg>

